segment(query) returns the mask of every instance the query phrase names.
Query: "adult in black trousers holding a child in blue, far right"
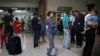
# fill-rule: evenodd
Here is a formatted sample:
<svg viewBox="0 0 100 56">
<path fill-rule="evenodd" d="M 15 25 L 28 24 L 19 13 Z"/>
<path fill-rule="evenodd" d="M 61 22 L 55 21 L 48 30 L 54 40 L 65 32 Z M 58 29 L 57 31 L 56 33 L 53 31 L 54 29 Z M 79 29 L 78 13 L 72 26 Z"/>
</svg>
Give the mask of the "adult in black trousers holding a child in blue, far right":
<svg viewBox="0 0 100 56">
<path fill-rule="evenodd" d="M 97 25 L 97 16 L 95 10 L 95 4 L 88 4 L 88 11 L 90 16 L 87 17 L 89 14 L 85 16 L 85 37 L 86 37 L 86 44 L 83 50 L 83 56 L 91 56 L 93 46 L 95 43 L 95 26 Z"/>
</svg>

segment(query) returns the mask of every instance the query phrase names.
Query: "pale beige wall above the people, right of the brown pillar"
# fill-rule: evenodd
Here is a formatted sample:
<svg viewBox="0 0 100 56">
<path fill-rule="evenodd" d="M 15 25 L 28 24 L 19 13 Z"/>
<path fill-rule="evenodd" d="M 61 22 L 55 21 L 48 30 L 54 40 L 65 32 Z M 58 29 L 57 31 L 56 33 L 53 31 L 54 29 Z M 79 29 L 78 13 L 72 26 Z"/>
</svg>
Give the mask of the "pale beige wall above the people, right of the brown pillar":
<svg viewBox="0 0 100 56">
<path fill-rule="evenodd" d="M 59 6 L 67 6 L 83 12 L 87 11 L 87 3 L 96 3 L 99 5 L 98 0 L 47 0 L 47 11 L 56 11 Z M 100 8 L 97 9 L 99 10 Z"/>
</svg>

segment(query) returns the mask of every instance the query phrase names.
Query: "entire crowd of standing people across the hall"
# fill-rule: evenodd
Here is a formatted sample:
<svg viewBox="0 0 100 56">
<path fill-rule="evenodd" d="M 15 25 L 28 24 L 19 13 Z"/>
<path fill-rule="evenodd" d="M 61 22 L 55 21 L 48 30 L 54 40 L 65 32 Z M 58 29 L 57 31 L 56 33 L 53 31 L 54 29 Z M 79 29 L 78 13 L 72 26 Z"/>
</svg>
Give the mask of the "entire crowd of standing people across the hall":
<svg viewBox="0 0 100 56">
<path fill-rule="evenodd" d="M 91 56 L 95 43 L 95 29 L 98 27 L 98 16 L 95 4 L 88 4 L 87 9 L 87 14 L 82 14 L 78 10 L 73 10 L 70 15 L 69 13 L 63 13 L 60 22 L 61 28 L 57 27 L 58 25 L 54 22 L 55 12 L 49 11 L 47 19 L 43 15 L 38 16 L 37 13 L 34 13 L 32 19 L 33 47 L 39 46 L 40 37 L 42 37 L 43 42 L 46 42 L 44 38 L 46 33 L 48 38 L 47 56 L 55 56 L 54 36 L 58 28 L 63 33 L 63 48 L 71 50 L 71 43 L 76 43 L 76 48 L 81 48 L 83 40 L 85 40 L 83 56 Z M 13 10 L 9 9 L 3 19 L 0 19 L 0 48 L 3 48 L 3 43 L 6 45 L 13 34 L 18 35 L 24 30 L 23 27 L 21 29 L 21 22 L 17 17 L 13 20 L 12 13 Z"/>
</svg>

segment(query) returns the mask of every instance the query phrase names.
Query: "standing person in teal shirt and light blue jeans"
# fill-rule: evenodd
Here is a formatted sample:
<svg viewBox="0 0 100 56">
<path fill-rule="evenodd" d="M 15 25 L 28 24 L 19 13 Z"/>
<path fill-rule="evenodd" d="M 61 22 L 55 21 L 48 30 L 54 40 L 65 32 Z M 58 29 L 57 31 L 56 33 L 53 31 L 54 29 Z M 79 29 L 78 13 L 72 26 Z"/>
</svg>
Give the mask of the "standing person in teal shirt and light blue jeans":
<svg viewBox="0 0 100 56">
<path fill-rule="evenodd" d="M 69 29 L 69 22 L 70 18 L 64 14 L 64 17 L 62 19 L 62 25 L 63 25 L 63 32 L 64 32 L 64 38 L 63 38 L 63 48 L 70 50 L 70 29 Z"/>
</svg>

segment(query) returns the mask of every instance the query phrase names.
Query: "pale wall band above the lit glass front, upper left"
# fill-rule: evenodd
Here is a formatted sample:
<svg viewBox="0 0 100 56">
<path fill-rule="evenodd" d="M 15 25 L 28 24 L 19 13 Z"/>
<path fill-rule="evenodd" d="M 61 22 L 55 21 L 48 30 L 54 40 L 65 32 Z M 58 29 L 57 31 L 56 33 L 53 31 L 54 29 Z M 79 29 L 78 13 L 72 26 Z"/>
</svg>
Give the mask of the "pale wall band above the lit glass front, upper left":
<svg viewBox="0 0 100 56">
<path fill-rule="evenodd" d="M 0 7 L 38 7 L 38 3 L 0 2 Z"/>
</svg>

